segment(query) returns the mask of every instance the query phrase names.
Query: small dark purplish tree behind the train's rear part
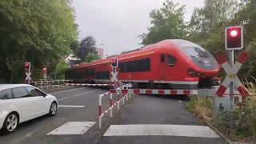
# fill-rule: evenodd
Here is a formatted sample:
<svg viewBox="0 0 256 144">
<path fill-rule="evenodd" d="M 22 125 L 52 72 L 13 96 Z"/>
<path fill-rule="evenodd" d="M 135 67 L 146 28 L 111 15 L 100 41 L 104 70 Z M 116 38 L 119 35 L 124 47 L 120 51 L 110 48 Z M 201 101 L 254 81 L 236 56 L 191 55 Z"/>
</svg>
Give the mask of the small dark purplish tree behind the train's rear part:
<svg viewBox="0 0 256 144">
<path fill-rule="evenodd" d="M 78 46 L 78 51 L 76 53 L 76 56 L 81 59 L 82 62 L 86 61 L 86 58 L 89 53 L 98 54 L 96 51 L 96 40 L 93 36 L 87 36 L 86 38 L 83 38 L 80 42 L 80 45 Z"/>
</svg>

